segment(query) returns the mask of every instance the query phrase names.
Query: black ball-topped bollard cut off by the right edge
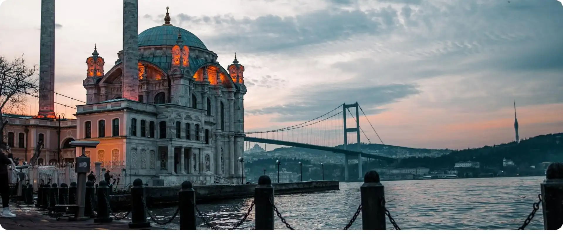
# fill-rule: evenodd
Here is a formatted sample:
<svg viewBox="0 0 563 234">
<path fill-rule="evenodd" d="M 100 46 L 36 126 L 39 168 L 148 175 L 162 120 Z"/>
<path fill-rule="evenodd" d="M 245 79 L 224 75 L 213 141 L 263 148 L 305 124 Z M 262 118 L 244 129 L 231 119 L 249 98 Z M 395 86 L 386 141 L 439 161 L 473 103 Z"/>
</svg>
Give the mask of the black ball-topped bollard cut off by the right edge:
<svg viewBox="0 0 563 234">
<path fill-rule="evenodd" d="M 549 164 L 541 187 L 543 229 L 558 230 L 563 226 L 563 163 Z"/>
</svg>

